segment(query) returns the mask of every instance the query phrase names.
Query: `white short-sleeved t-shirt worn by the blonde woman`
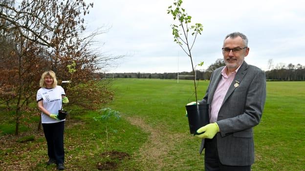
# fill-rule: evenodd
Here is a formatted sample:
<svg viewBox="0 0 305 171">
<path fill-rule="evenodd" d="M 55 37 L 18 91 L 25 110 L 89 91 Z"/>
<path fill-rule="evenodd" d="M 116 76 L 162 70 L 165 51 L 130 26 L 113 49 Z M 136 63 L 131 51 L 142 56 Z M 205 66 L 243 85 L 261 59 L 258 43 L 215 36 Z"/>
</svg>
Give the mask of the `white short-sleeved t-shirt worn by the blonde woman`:
<svg viewBox="0 0 305 171">
<path fill-rule="evenodd" d="M 62 95 L 65 95 L 65 90 L 62 86 L 56 86 L 53 89 L 40 88 L 37 92 L 37 102 L 43 100 L 44 109 L 49 111 L 51 114 L 58 114 L 58 110 L 61 110 L 63 102 Z M 42 123 L 56 123 L 63 120 L 56 120 L 49 117 L 47 114 L 42 112 Z"/>
</svg>

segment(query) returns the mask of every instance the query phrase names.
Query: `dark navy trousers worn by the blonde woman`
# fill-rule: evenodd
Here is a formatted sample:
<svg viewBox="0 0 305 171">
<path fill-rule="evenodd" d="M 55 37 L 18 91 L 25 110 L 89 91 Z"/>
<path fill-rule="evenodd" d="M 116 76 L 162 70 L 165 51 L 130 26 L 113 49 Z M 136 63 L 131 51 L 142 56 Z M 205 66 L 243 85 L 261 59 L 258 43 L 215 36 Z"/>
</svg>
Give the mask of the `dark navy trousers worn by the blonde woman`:
<svg viewBox="0 0 305 171">
<path fill-rule="evenodd" d="M 48 156 L 55 159 L 56 164 L 64 164 L 64 129 L 65 121 L 57 123 L 43 123 L 44 136 L 48 147 Z"/>
</svg>

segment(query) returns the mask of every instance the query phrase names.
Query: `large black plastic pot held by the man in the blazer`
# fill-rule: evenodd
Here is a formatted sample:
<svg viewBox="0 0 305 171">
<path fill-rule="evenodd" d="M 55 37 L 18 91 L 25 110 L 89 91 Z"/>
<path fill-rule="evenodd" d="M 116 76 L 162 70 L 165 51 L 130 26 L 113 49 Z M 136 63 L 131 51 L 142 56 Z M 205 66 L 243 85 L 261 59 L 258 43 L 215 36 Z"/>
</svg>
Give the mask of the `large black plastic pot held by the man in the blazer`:
<svg viewBox="0 0 305 171">
<path fill-rule="evenodd" d="M 188 105 L 185 107 L 189 120 L 190 133 L 194 134 L 199 128 L 209 124 L 208 104 Z"/>
</svg>

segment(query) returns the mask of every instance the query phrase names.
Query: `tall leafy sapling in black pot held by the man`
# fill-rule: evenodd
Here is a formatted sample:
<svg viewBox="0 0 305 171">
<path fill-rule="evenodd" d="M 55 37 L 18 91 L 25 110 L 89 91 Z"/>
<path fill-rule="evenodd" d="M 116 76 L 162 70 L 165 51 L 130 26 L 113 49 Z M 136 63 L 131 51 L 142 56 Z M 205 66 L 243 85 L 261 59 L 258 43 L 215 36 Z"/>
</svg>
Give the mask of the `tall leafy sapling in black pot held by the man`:
<svg viewBox="0 0 305 171">
<path fill-rule="evenodd" d="M 202 126 L 205 126 L 209 123 L 209 105 L 204 102 L 198 102 L 197 98 L 197 85 L 196 85 L 196 76 L 195 76 L 195 67 L 192 58 L 192 48 L 194 46 L 195 40 L 203 30 L 203 26 L 200 23 L 191 25 L 191 16 L 188 16 L 185 12 L 185 9 L 181 7 L 182 0 L 174 0 L 174 5 L 168 7 L 168 14 L 173 16 L 174 22 L 177 24 L 171 24 L 172 34 L 174 36 L 174 42 L 176 42 L 182 50 L 190 57 L 193 71 L 193 81 L 195 89 L 195 98 L 194 103 L 189 103 L 186 105 L 186 111 L 189 121 L 190 133 L 196 133 L 197 129 Z M 201 62 L 198 65 L 202 65 Z"/>
</svg>

